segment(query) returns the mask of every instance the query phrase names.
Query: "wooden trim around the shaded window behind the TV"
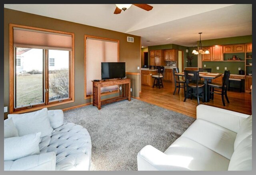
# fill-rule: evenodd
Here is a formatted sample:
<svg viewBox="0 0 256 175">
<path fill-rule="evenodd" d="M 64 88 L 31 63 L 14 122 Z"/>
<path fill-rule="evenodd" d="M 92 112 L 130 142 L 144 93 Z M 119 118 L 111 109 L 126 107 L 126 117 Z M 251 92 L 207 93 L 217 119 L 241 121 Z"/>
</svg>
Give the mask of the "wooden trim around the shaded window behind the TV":
<svg viewBox="0 0 256 175">
<path fill-rule="evenodd" d="M 119 62 L 119 40 L 115 40 L 115 39 L 110 39 L 110 38 L 103 38 L 103 37 L 99 37 L 99 36 L 91 36 L 91 35 L 84 35 L 84 99 L 91 99 L 92 98 L 92 94 L 91 95 L 87 95 L 86 94 L 86 47 L 87 47 L 87 44 L 86 44 L 86 40 L 87 38 L 95 38 L 95 39 L 98 39 L 98 40 L 106 40 L 106 41 L 114 41 L 114 42 L 117 42 L 118 43 L 118 50 L 117 50 L 117 61 Z M 104 95 L 110 95 L 110 94 L 113 94 L 113 93 L 118 93 L 119 92 L 119 89 L 117 90 L 114 90 L 112 92 L 102 92 L 101 96 L 104 96 Z"/>
</svg>

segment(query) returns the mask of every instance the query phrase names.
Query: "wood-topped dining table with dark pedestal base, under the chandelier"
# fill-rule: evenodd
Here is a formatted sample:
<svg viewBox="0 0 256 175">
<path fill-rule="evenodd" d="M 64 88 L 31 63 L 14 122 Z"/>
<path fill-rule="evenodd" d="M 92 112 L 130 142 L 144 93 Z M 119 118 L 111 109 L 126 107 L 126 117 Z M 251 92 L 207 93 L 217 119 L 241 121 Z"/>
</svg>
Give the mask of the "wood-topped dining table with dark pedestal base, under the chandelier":
<svg viewBox="0 0 256 175">
<path fill-rule="evenodd" d="M 178 73 L 175 73 L 175 75 L 184 77 L 184 72 L 178 72 Z M 209 92 L 208 92 L 208 88 L 207 88 L 208 80 L 213 80 L 213 79 L 218 78 L 220 76 L 222 76 L 222 73 L 199 72 L 199 78 L 204 78 L 204 92 L 205 92 L 204 93 L 204 101 L 205 102 L 209 101 L 209 99 L 208 99 L 208 93 Z"/>
</svg>

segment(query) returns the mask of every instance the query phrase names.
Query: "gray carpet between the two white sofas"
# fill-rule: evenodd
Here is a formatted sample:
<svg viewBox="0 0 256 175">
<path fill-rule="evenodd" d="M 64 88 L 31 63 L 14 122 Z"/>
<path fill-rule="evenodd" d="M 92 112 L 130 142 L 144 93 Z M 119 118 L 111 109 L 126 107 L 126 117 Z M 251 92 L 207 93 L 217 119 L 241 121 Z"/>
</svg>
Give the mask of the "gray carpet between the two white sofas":
<svg viewBox="0 0 256 175">
<path fill-rule="evenodd" d="M 137 170 L 137 154 L 146 145 L 165 151 L 194 118 L 138 99 L 102 109 L 88 105 L 64 112 L 64 121 L 84 126 L 92 139 L 90 170 Z"/>
</svg>

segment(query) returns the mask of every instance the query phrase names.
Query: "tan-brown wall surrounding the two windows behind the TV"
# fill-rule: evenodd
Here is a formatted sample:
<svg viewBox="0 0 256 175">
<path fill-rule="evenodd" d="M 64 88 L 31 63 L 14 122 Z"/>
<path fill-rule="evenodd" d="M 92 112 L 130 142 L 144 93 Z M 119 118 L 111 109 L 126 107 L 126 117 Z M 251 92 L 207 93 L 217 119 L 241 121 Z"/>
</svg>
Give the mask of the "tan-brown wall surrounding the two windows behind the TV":
<svg viewBox="0 0 256 175">
<path fill-rule="evenodd" d="M 126 62 L 126 72 L 140 72 L 140 36 L 133 36 L 112 30 L 96 28 L 74 22 L 48 18 L 35 14 L 20 12 L 4 8 L 4 106 L 9 109 L 9 24 L 19 24 L 51 30 L 72 32 L 75 34 L 75 101 L 64 105 L 49 107 L 48 109 L 64 109 L 84 103 L 90 99 L 84 99 L 84 35 L 112 38 L 120 41 L 120 62 Z M 127 36 L 134 37 L 134 43 L 127 42 Z M 134 76 L 132 76 L 134 78 Z M 139 82 L 132 80 L 131 95 L 138 97 Z M 111 97 L 113 95 L 110 95 Z M 106 98 L 106 97 L 104 97 Z M 9 110 L 8 110 L 9 111 Z M 5 118 L 7 113 L 5 113 Z"/>
</svg>

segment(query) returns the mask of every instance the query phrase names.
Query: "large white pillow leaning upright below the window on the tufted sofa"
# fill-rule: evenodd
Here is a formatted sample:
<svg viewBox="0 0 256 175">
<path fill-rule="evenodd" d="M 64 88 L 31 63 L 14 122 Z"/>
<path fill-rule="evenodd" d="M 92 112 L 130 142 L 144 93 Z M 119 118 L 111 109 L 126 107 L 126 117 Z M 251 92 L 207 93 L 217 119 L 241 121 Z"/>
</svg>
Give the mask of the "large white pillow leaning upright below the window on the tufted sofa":
<svg viewBox="0 0 256 175">
<path fill-rule="evenodd" d="M 31 113 L 8 114 L 8 118 L 12 118 L 19 136 L 41 132 L 41 137 L 44 137 L 53 131 L 46 107 Z"/>
</svg>

